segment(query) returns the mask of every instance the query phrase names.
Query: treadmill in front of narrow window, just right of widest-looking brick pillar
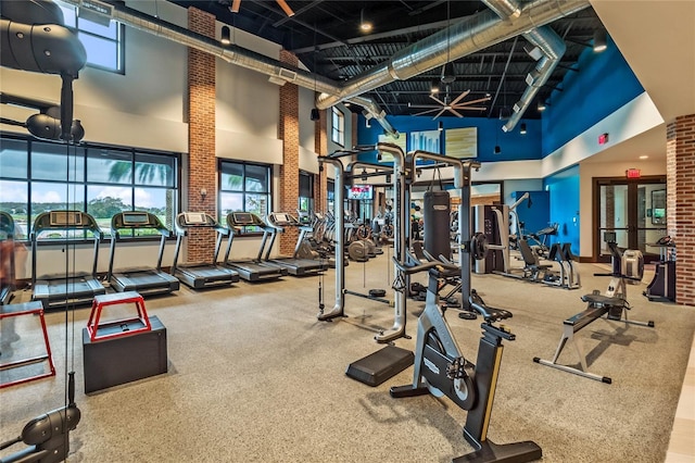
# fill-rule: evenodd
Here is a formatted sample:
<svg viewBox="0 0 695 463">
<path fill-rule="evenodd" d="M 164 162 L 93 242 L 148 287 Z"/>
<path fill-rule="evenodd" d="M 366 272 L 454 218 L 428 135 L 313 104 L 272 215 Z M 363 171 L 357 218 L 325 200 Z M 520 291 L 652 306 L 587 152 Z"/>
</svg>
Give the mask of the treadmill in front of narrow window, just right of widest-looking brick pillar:
<svg viewBox="0 0 695 463">
<path fill-rule="evenodd" d="M 268 225 L 263 222 L 263 218 L 251 212 L 231 212 L 227 214 L 229 238 L 227 239 L 227 251 L 225 252 L 224 265 L 237 271 L 239 276 L 247 281 L 269 281 L 287 275 L 286 267 L 263 262 L 261 255 L 255 260 L 229 260 L 229 251 L 231 251 L 231 243 L 235 236 L 239 234 L 242 227 L 247 226 L 256 226 L 262 228 L 264 232 L 269 228 Z"/>
</svg>

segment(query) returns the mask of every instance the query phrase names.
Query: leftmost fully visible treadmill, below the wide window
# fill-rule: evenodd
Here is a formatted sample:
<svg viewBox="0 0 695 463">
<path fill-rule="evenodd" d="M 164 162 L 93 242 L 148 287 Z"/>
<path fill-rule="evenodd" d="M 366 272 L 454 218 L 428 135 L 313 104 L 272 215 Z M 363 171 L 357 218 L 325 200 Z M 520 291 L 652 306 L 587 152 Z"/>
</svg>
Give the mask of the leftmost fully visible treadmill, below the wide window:
<svg viewBox="0 0 695 463">
<path fill-rule="evenodd" d="M 37 278 L 37 260 L 39 237 L 42 234 L 64 235 L 63 239 L 56 239 L 56 245 L 65 246 L 67 241 L 77 241 L 86 238 L 86 233 L 91 233 L 94 240 L 94 258 L 91 273 L 74 273 L 72 275 L 50 275 Z M 104 295 L 104 288 L 97 278 L 97 261 L 99 259 L 99 243 L 103 239 L 103 233 L 94 217 L 81 211 L 50 211 L 42 212 L 34 221 L 31 229 L 31 287 L 35 301 L 40 301 L 43 309 L 65 308 L 68 304 L 91 304 L 94 296 Z M 50 238 L 43 242 L 51 242 Z"/>
</svg>

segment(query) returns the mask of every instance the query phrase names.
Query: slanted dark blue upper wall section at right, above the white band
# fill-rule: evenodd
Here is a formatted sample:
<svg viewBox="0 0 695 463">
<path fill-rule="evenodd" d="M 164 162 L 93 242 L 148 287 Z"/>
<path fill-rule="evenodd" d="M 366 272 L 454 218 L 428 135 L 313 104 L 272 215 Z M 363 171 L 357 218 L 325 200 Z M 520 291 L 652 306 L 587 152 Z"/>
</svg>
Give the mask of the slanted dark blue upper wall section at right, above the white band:
<svg viewBox="0 0 695 463">
<path fill-rule="evenodd" d="M 543 157 L 644 92 L 610 37 L 602 53 L 587 48 L 576 65 L 579 71 L 569 71 L 563 91 L 552 93 L 542 117 Z"/>
</svg>

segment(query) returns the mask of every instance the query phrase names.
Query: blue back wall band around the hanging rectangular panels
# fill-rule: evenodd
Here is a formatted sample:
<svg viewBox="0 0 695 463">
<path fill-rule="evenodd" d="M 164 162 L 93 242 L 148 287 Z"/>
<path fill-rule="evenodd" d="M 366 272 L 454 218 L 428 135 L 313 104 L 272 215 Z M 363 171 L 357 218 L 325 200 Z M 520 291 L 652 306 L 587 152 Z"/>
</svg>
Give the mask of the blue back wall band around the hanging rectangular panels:
<svg viewBox="0 0 695 463">
<path fill-rule="evenodd" d="M 504 133 L 502 126 L 504 121 L 498 118 L 483 117 L 432 117 L 427 116 L 387 116 L 391 125 L 401 133 L 401 137 L 408 137 L 410 132 L 437 130 L 440 121 L 444 124 L 441 137 L 440 152 L 444 153 L 444 137 L 447 128 L 478 127 L 478 161 L 520 161 L 541 159 L 541 121 L 521 120 L 516 128 L 509 133 Z M 521 123 L 527 125 L 527 134 L 519 134 Z M 375 145 L 379 141 L 379 135 L 383 134 L 383 128 L 371 121 L 371 127 L 365 126 L 364 116 L 359 115 L 359 128 L 357 130 L 357 142 L 359 145 Z M 494 154 L 495 145 L 502 148 L 500 154 Z M 412 147 L 407 146 L 406 151 Z M 362 161 L 376 162 L 376 153 L 365 154 L 359 158 Z"/>
</svg>

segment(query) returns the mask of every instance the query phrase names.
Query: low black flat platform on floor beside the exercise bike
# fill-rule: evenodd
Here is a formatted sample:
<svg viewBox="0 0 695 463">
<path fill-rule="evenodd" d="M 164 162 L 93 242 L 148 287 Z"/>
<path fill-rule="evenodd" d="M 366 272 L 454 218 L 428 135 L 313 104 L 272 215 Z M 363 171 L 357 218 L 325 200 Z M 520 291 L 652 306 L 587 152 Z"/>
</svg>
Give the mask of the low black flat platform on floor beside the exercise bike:
<svg viewBox="0 0 695 463">
<path fill-rule="evenodd" d="M 409 350 L 387 346 L 351 363 L 345 375 L 375 387 L 413 365 L 414 361 L 415 355 Z"/>
</svg>

